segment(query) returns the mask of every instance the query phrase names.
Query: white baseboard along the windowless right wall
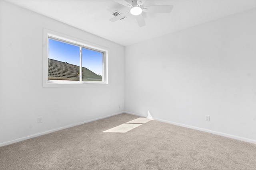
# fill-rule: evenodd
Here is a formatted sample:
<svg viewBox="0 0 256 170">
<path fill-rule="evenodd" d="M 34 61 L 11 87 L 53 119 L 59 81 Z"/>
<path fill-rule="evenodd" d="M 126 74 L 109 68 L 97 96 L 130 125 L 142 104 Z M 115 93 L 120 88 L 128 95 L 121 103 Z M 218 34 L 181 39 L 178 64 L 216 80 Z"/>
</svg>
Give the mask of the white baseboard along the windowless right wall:
<svg viewBox="0 0 256 170">
<path fill-rule="evenodd" d="M 131 112 L 128 112 L 128 111 L 124 111 L 124 113 L 128 113 L 128 114 L 131 114 L 131 115 L 136 115 L 136 116 L 144 117 L 143 115 L 139 115 L 139 114 L 136 114 L 136 113 L 131 113 Z M 212 130 L 203 129 L 203 128 L 200 128 L 200 127 L 185 125 L 185 124 L 182 124 L 182 123 L 176 123 L 176 122 L 166 121 L 166 120 L 157 119 L 157 118 L 154 118 L 154 120 L 162 121 L 164 123 L 170 123 L 172 125 L 178 125 L 178 126 L 182 126 L 182 127 L 187 127 L 187 128 L 190 128 L 190 129 L 204 131 L 204 132 L 212 133 L 212 134 L 215 134 L 215 135 L 220 135 L 220 136 L 229 137 L 229 138 L 232 138 L 232 139 L 237 139 L 237 140 L 240 140 L 240 141 L 245 141 L 245 142 L 256 144 L 256 140 L 253 140 L 253 139 L 248 139 L 248 138 L 244 138 L 244 137 L 230 135 L 230 134 L 227 134 L 227 133 L 212 131 Z"/>
</svg>

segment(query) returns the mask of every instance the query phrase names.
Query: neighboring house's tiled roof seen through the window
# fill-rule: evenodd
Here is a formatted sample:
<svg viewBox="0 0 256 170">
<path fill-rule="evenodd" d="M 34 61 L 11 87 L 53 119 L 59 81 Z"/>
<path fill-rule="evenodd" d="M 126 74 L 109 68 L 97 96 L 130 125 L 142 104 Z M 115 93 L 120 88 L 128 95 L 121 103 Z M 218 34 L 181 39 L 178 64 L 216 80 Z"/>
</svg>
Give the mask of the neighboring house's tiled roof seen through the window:
<svg viewBox="0 0 256 170">
<path fill-rule="evenodd" d="M 48 59 L 48 80 L 79 81 L 79 66 Z M 82 81 L 102 81 L 102 76 L 82 67 Z"/>
</svg>

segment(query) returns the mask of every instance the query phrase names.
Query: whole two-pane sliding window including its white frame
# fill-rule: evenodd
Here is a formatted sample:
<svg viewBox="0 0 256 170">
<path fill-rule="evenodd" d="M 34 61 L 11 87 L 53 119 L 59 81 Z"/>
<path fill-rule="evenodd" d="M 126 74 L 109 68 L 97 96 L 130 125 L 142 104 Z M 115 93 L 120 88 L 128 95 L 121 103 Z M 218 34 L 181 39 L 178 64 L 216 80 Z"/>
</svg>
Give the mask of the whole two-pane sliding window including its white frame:
<svg viewBox="0 0 256 170">
<path fill-rule="evenodd" d="M 106 48 L 44 30 L 43 86 L 108 84 Z"/>
</svg>

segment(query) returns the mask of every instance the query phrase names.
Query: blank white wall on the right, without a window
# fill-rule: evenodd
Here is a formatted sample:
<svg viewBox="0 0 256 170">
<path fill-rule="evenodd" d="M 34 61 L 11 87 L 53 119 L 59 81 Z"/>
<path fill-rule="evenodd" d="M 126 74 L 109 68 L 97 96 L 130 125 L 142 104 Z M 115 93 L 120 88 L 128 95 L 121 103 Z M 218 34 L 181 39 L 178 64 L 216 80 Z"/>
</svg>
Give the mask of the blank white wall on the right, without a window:
<svg viewBox="0 0 256 170">
<path fill-rule="evenodd" d="M 125 111 L 256 143 L 255 18 L 256 9 L 126 47 Z"/>
</svg>

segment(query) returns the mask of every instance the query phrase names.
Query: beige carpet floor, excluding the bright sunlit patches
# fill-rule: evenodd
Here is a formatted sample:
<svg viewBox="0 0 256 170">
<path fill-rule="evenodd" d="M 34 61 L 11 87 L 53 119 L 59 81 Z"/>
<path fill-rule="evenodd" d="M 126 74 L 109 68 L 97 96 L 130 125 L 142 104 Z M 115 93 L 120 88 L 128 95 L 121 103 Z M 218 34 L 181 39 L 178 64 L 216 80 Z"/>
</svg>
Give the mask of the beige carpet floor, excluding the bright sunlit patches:
<svg viewBox="0 0 256 170">
<path fill-rule="evenodd" d="M 256 145 L 120 114 L 0 147 L 1 170 L 256 170 Z"/>
</svg>

